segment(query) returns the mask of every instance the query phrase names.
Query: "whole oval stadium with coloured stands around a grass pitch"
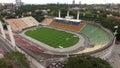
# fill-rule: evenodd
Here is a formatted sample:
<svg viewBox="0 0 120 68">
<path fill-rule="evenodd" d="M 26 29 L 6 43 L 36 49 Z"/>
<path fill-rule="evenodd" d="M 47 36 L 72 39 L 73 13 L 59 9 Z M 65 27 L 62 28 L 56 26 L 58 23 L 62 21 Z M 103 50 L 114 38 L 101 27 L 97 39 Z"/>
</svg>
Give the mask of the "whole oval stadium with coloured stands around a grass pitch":
<svg viewBox="0 0 120 68">
<path fill-rule="evenodd" d="M 111 31 L 91 21 L 46 17 L 39 23 L 30 16 L 5 22 L 11 26 L 17 46 L 36 53 L 38 62 L 47 68 L 83 53 L 107 59 L 115 42 Z"/>
</svg>

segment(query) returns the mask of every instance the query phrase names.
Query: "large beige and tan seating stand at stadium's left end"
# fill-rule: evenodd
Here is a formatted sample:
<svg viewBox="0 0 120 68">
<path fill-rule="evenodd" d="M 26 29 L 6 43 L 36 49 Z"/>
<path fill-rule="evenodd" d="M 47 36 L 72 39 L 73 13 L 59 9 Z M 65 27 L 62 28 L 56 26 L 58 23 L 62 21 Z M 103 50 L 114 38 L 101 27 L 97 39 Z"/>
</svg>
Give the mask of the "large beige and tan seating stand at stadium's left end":
<svg viewBox="0 0 120 68">
<path fill-rule="evenodd" d="M 11 25 L 13 31 L 21 31 L 25 28 L 37 26 L 39 22 L 36 21 L 32 16 L 18 18 L 18 19 L 6 19 L 5 20 L 9 25 Z"/>
</svg>

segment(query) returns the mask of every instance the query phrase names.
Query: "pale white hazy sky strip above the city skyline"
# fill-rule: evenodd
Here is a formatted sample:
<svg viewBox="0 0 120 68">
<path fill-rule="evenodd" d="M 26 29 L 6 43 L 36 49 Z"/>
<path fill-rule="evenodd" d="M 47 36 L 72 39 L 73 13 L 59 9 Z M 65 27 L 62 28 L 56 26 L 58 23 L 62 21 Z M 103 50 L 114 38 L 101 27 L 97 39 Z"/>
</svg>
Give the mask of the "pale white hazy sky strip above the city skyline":
<svg viewBox="0 0 120 68">
<path fill-rule="evenodd" d="M 46 3 L 69 3 L 71 4 L 73 0 L 22 0 L 25 4 L 46 4 Z M 105 0 L 75 0 L 75 3 L 79 3 L 81 1 L 82 4 L 104 4 Z M 120 0 L 106 0 L 107 3 L 120 3 Z M 15 3 L 15 0 L 0 0 L 0 3 Z"/>
</svg>

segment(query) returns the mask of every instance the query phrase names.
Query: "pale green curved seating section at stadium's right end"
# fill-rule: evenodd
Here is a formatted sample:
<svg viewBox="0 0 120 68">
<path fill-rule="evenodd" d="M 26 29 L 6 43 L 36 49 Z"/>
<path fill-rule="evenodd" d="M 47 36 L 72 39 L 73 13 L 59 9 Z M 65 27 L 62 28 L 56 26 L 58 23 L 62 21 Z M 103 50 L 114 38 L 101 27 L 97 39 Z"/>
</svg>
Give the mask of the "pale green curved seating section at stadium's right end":
<svg viewBox="0 0 120 68">
<path fill-rule="evenodd" d="M 110 41 L 110 36 L 107 32 L 90 24 L 86 24 L 80 33 L 85 34 L 89 38 L 91 45 L 105 44 Z"/>
</svg>

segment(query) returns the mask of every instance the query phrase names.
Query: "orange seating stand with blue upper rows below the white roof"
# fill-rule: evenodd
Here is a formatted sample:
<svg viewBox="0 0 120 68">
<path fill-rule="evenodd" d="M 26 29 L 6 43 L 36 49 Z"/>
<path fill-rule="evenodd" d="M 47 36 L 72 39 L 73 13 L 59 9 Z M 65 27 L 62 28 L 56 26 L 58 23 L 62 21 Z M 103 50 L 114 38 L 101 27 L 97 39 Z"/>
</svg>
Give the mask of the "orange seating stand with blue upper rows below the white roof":
<svg viewBox="0 0 120 68">
<path fill-rule="evenodd" d="M 73 24 L 75 23 L 75 24 Z M 76 24 L 77 23 L 77 24 Z M 81 28 L 84 26 L 84 23 L 78 23 L 78 22 L 65 22 L 65 21 L 60 21 L 60 20 L 54 20 L 50 26 L 52 27 L 57 27 L 60 29 L 65 29 L 65 30 L 70 30 L 70 31 L 75 31 L 79 32 Z"/>
</svg>

